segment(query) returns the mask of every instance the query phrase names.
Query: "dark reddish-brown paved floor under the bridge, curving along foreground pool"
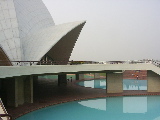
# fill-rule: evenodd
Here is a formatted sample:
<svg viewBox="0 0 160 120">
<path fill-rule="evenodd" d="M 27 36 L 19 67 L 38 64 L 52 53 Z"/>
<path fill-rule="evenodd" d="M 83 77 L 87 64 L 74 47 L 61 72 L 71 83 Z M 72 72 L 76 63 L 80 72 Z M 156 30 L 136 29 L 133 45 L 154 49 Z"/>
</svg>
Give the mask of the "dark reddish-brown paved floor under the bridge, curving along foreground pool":
<svg viewBox="0 0 160 120">
<path fill-rule="evenodd" d="M 160 93 L 147 93 L 146 91 L 124 91 L 121 94 L 106 94 L 104 89 L 84 88 L 75 85 L 75 82 L 68 82 L 67 86 L 58 87 L 57 82 L 40 80 L 34 86 L 34 103 L 26 103 L 17 108 L 7 108 L 7 111 L 13 118 L 17 118 L 40 108 L 75 100 L 123 95 L 160 95 Z"/>
</svg>

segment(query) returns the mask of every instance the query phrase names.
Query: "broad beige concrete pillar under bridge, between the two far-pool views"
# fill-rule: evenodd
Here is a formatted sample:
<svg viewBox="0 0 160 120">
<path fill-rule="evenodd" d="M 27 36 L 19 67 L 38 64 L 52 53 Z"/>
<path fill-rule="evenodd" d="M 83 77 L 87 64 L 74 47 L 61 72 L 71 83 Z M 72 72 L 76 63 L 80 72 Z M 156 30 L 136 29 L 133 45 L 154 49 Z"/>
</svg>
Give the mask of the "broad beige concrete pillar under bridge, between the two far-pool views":
<svg viewBox="0 0 160 120">
<path fill-rule="evenodd" d="M 106 75 L 107 93 L 122 93 L 123 92 L 123 74 L 122 73 L 107 73 Z"/>
</svg>

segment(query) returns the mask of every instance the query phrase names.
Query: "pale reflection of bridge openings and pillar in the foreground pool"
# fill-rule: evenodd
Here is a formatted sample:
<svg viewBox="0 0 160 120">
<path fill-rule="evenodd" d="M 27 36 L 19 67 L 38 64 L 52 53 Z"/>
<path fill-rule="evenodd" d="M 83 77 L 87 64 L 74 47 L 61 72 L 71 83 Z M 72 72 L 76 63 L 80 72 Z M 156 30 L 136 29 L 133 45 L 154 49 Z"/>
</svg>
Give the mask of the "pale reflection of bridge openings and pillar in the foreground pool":
<svg viewBox="0 0 160 120">
<path fill-rule="evenodd" d="M 103 111 L 116 110 L 121 113 L 146 113 L 147 97 L 119 97 L 80 101 L 79 104 Z"/>
</svg>

